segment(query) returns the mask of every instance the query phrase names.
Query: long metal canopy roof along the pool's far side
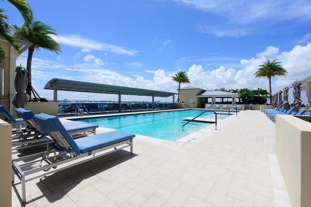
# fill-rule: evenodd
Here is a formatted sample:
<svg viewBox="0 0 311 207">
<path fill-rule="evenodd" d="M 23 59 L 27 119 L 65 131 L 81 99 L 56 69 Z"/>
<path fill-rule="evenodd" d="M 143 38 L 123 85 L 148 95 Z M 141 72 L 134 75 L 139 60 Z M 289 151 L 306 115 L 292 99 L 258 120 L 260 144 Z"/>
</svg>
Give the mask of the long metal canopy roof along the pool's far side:
<svg viewBox="0 0 311 207">
<path fill-rule="evenodd" d="M 101 94 L 137 95 L 137 96 L 157 96 L 169 97 L 176 93 L 154 91 L 141 88 L 131 88 L 100 83 L 83 82 L 76 80 L 51 79 L 44 86 L 44 89 L 60 91 L 77 91 Z"/>
</svg>

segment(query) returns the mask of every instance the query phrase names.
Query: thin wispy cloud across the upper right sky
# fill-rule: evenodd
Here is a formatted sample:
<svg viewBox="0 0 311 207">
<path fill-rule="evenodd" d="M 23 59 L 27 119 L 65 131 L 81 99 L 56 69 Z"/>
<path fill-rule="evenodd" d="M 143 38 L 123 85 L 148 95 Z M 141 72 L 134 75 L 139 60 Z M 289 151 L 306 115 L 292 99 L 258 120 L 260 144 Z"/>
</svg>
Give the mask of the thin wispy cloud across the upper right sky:
<svg viewBox="0 0 311 207">
<path fill-rule="evenodd" d="M 215 14 L 217 25 L 212 20 L 199 23 L 199 32 L 216 36 L 242 37 L 255 30 L 259 24 L 271 26 L 291 19 L 311 19 L 310 0 L 173 0 L 182 6 L 194 7 L 203 12 Z M 217 18 L 215 17 L 215 18 Z M 201 20 L 204 21 L 204 20 Z M 255 24 L 257 24 L 255 26 Z M 263 32 L 263 30 L 260 30 Z M 299 43 L 299 42 L 298 42 Z M 299 43 L 300 44 L 300 43 Z"/>
</svg>

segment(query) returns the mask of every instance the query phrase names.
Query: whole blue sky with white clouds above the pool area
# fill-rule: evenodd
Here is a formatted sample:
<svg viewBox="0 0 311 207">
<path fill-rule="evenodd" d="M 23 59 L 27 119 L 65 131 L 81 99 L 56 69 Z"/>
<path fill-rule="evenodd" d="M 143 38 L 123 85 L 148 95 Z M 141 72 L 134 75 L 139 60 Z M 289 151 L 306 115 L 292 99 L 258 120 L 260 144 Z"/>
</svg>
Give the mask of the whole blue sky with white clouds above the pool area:
<svg viewBox="0 0 311 207">
<path fill-rule="evenodd" d="M 28 0 L 36 20 L 50 25 L 62 53 L 35 51 L 32 80 L 41 97 L 52 78 L 177 92 L 171 76 L 187 71 L 206 90 L 267 89 L 254 73 L 278 59 L 286 77 L 273 92 L 311 75 L 310 0 Z M 22 17 L 1 2 L 10 23 Z M 27 52 L 17 59 L 26 67 Z M 290 91 L 291 93 L 291 91 Z M 303 95 L 302 95 L 303 96 Z M 59 92 L 62 100 L 117 100 L 118 96 Z M 122 96 L 122 101 L 151 97 Z M 172 101 L 170 98 L 155 100 Z"/>
</svg>

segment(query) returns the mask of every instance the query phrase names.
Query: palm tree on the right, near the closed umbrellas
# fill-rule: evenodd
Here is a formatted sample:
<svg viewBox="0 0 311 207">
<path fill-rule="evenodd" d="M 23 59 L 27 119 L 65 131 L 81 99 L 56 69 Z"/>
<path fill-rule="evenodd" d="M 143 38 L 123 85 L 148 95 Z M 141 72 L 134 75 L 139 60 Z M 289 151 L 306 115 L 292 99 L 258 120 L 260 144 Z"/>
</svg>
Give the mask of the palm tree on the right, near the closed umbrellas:
<svg viewBox="0 0 311 207">
<path fill-rule="evenodd" d="M 259 65 L 259 69 L 257 72 L 254 74 L 256 78 L 268 78 L 269 79 L 269 93 L 270 96 L 272 96 L 272 91 L 271 91 L 271 78 L 274 76 L 286 76 L 287 70 L 283 68 L 281 65 L 281 62 L 276 62 L 268 60 L 267 63 L 264 63 Z M 271 98 L 270 98 L 270 104 L 271 104 Z"/>
</svg>

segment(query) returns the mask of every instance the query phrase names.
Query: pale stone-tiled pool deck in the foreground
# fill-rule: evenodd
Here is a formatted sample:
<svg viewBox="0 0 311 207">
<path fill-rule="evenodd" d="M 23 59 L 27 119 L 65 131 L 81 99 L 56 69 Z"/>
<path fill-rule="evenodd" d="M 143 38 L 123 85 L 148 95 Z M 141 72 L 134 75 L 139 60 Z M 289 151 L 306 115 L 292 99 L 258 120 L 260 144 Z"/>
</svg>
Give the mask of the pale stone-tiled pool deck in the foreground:
<svg viewBox="0 0 311 207">
<path fill-rule="evenodd" d="M 137 135 L 132 156 L 119 150 L 27 182 L 26 207 L 291 207 L 275 135 L 257 110 L 175 142 Z"/>
</svg>

